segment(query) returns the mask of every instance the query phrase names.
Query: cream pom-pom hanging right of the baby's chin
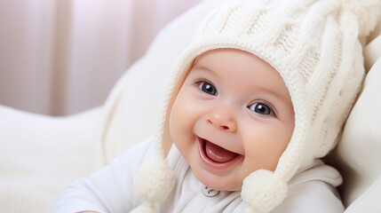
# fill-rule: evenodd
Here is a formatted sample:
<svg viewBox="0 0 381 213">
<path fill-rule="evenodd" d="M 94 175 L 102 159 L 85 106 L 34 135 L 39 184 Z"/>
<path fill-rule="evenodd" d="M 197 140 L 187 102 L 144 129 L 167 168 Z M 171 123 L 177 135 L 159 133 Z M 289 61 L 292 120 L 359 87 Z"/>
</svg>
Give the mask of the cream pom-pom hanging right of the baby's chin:
<svg viewBox="0 0 381 213">
<path fill-rule="evenodd" d="M 287 195 L 287 183 L 273 171 L 257 170 L 243 180 L 242 199 L 250 205 L 246 212 L 270 212 Z"/>
</svg>

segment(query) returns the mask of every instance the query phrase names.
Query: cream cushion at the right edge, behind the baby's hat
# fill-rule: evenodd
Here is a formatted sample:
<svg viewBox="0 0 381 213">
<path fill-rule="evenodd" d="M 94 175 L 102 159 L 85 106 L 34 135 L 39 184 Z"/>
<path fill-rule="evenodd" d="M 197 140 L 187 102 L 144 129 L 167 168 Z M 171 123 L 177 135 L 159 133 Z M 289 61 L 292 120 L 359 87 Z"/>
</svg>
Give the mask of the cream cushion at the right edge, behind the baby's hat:
<svg viewBox="0 0 381 213">
<path fill-rule="evenodd" d="M 367 75 L 364 89 L 345 123 L 343 136 L 334 153 L 339 159 L 338 168 L 344 176 L 342 193 L 345 205 L 353 203 L 381 177 L 380 79 L 381 58 Z M 368 202 L 377 205 L 378 211 L 365 210 L 370 208 L 367 204 L 363 206 L 366 208 L 362 212 L 381 212 L 381 203 L 378 201 L 381 184 L 375 187 L 378 189 L 370 189 L 373 198 Z"/>
</svg>

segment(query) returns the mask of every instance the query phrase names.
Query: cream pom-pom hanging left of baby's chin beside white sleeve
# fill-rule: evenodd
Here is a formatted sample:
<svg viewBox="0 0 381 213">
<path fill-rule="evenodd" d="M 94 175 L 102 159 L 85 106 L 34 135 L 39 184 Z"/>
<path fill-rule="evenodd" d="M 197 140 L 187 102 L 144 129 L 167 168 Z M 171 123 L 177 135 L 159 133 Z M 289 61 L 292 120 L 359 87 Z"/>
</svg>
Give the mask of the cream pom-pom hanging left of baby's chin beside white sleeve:
<svg viewBox="0 0 381 213">
<path fill-rule="evenodd" d="M 139 170 L 135 189 L 147 201 L 164 201 L 176 182 L 173 171 L 164 161 L 150 162 Z"/>
</svg>

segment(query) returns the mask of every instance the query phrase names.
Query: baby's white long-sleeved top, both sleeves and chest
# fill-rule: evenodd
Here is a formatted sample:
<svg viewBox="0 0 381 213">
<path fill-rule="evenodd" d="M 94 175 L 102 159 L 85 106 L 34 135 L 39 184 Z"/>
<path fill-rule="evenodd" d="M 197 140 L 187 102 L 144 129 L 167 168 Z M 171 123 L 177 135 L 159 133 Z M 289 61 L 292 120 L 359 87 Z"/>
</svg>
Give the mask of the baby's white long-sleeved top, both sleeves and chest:
<svg viewBox="0 0 381 213">
<path fill-rule="evenodd" d="M 153 158 L 153 139 L 148 139 L 116 158 L 106 168 L 83 177 L 60 195 L 52 212 L 92 210 L 128 212 L 141 204 L 133 189 L 139 167 Z M 203 185 L 194 177 L 179 150 L 172 146 L 167 158 L 177 176 L 175 190 L 161 203 L 160 212 L 242 212 L 246 203 L 239 192 L 220 192 L 214 197 L 202 193 Z M 341 183 L 337 170 L 320 161 L 298 172 L 290 181 L 290 196 L 274 213 L 344 212 L 335 186 Z M 149 184 L 149 183 L 147 183 Z"/>
</svg>

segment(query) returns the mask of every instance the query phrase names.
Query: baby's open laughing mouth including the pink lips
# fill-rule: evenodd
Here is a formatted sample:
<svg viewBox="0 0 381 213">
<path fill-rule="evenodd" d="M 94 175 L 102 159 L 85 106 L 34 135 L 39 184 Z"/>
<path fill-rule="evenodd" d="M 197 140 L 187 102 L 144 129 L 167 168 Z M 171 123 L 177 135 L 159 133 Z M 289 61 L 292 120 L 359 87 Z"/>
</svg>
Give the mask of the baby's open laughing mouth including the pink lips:
<svg viewBox="0 0 381 213">
<path fill-rule="evenodd" d="M 206 139 L 198 138 L 198 141 L 202 162 L 213 169 L 226 169 L 242 156 L 241 154 L 236 154 L 221 146 L 215 145 Z"/>
</svg>

